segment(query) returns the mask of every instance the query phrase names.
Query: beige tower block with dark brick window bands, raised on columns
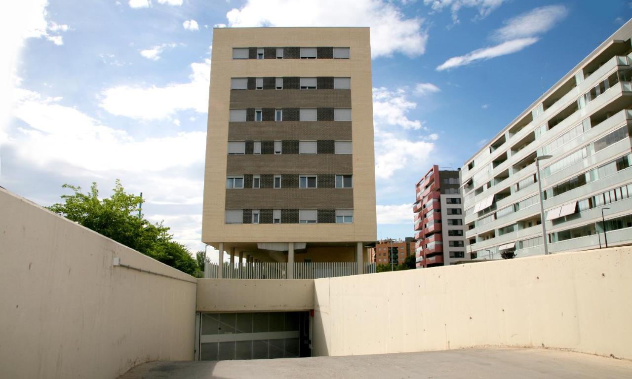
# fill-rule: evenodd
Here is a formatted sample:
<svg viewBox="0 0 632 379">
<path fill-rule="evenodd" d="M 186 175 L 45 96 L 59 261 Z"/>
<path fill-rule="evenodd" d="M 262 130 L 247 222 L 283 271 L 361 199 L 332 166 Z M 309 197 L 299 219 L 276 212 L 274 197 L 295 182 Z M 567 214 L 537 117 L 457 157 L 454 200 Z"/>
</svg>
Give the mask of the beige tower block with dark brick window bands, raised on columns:
<svg viewBox="0 0 632 379">
<path fill-rule="evenodd" d="M 377 234 L 370 56 L 368 28 L 214 29 L 202 241 L 220 262 L 362 267 Z"/>
</svg>

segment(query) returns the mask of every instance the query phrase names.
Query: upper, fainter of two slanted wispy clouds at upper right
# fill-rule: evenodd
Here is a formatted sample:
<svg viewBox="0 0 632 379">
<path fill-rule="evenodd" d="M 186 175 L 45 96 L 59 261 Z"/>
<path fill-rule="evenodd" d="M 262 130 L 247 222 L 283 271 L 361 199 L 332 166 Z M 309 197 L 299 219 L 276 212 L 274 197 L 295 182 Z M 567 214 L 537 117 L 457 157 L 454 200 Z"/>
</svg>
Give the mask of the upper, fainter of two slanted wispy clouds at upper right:
<svg viewBox="0 0 632 379">
<path fill-rule="evenodd" d="M 494 38 L 512 40 L 533 37 L 548 32 L 559 21 L 568 15 L 568 9 L 562 5 L 550 5 L 535 8 L 507 21 L 505 26 L 494 32 Z"/>
</svg>

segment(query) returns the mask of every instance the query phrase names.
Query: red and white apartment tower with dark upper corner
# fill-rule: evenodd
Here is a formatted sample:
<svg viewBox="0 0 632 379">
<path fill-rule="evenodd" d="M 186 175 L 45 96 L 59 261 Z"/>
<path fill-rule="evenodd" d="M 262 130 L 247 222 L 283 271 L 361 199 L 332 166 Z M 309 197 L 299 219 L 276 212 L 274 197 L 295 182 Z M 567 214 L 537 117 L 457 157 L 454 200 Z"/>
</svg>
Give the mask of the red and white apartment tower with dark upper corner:
<svg viewBox="0 0 632 379">
<path fill-rule="evenodd" d="M 416 267 L 466 260 L 459 171 L 433 165 L 415 185 Z"/>
</svg>

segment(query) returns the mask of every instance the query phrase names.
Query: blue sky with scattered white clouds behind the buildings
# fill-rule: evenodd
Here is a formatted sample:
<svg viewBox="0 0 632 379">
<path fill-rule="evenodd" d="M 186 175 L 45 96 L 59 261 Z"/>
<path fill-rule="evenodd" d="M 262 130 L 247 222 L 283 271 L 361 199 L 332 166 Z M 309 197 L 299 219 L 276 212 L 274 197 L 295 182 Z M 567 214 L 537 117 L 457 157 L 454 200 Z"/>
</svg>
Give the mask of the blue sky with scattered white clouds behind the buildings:
<svg viewBox="0 0 632 379">
<path fill-rule="evenodd" d="M 3 5 L 3 8 L 9 8 Z M 378 236 L 413 235 L 415 183 L 486 139 L 632 16 L 628 1 L 28 0 L 4 9 L 0 186 L 143 192 L 202 248 L 212 29 L 372 28 Z M 299 16 L 300 15 L 300 16 Z M 297 23 L 301 20 L 302 25 Z"/>
</svg>

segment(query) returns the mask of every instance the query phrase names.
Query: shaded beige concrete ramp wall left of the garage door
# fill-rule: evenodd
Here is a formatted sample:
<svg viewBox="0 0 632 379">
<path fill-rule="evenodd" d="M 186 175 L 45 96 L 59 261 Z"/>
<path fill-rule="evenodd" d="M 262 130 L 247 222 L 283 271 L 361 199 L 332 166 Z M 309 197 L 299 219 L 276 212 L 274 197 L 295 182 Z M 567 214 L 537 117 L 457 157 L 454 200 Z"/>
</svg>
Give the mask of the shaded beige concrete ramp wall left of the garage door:
<svg viewBox="0 0 632 379">
<path fill-rule="evenodd" d="M 1 377 L 112 379 L 193 359 L 195 292 L 193 277 L 0 188 Z"/>
</svg>

